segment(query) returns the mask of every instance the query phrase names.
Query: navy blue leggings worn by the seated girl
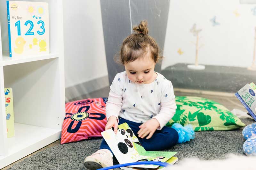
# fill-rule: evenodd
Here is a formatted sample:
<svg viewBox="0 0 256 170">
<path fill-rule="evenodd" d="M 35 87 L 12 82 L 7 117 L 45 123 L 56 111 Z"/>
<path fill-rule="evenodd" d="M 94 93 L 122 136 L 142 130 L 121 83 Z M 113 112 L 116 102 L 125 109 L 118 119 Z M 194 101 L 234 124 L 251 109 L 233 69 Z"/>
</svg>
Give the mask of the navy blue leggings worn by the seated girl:
<svg viewBox="0 0 256 170">
<path fill-rule="evenodd" d="M 141 123 L 128 121 L 119 117 L 118 125 L 123 123 L 127 123 L 129 125 L 134 135 L 139 139 L 140 144 L 144 147 L 146 151 L 160 151 L 163 149 L 167 149 L 177 144 L 179 139 L 178 132 L 175 129 L 166 126 L 164 126 L 161 130 L 156 130 L 150 139 L 146 139 L 146 137 L 142 139 L 138 137 L 138 131 L 140 130 L 139 126 L 141 125 Z M 100 149 L 108 149 L 110 152 L 112 152 L 104 139 L 101 142 Z"/>
</svg>

